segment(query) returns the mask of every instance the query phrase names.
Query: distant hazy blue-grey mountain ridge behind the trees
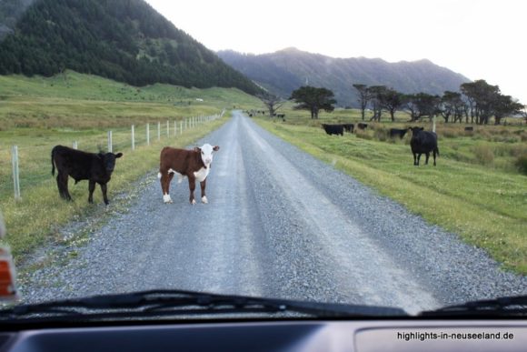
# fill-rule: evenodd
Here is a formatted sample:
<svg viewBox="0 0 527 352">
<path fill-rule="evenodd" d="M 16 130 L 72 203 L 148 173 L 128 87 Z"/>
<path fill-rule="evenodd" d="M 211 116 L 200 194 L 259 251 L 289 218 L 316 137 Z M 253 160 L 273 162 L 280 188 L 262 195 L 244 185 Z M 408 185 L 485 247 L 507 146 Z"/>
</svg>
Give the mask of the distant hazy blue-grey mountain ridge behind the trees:
<svg viewBox="0 0 527 352">
<path fill-rule="evenodd" d="M 388 63 L 382 59 L 333 58 L 287 48 L 272 54 L 221 51 L 225 63 L 283 97 L 306 81 L 333 90 L 339 106 L 357 106 L 353 84 L 386 85 L 402 93 L 441 95 L 470 80 L 429 60 Z"/>
</svg>

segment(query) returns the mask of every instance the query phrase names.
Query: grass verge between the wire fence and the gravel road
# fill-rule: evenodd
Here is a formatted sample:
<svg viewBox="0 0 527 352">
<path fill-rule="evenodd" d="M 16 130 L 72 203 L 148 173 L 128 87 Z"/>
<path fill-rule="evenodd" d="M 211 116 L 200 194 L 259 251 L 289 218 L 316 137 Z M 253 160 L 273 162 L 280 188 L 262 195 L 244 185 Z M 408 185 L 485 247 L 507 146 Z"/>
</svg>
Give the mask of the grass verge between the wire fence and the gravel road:
<svg viewBox="0 0 527 352">
<path fill-rule="evenodd" d="M 189 145 L 227 120 L 227 117 L 216 119 L 186 130 L 183 135 L 154 141 L 151 146 L 139 146 L 134 151 L 124 150 L 124 156 L 117 161 L 112 181 L 108 184 L 110 202 L 115 194 L 125 192 L 130 184 L 158 166 L 159 151 L 163 146 Z M 48 152 L 45 149 L 46 155 Z M 15 201 L 12 197 L 0 200 L 0 210 L 4 214 L 7 228 L 4 242 L 11 246 L 15 260 L 22 260 L 38 246 L 60 242 L 62 239 L 58 236 L 59 229 L 69 221 L 104 215 L 106 210 L 99 186 L 94 192 L 94 205 L 90 205 L 87 203 L 87 182 L 83 181 L 76 186 L 73 184 L 70 182 L 73 202 L 65 202 L 59 198 L 55 179 L 51 175 L 42 184 L 28 188 L 21 201 Z"/>
</svg>

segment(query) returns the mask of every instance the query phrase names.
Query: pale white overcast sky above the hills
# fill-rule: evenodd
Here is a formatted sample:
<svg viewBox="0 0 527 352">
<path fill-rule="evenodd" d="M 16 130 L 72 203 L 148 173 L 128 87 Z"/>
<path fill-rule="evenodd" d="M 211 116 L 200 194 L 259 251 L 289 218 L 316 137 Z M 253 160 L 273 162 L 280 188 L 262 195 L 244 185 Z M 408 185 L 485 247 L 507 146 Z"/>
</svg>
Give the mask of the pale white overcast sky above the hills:
<svg viewBox="0 0 527 352">
<path fill-rule="evenodd" d="M 146 0 L 214 51 L 423 58 L 527 104 L 524 0 Z"/>
</svg>

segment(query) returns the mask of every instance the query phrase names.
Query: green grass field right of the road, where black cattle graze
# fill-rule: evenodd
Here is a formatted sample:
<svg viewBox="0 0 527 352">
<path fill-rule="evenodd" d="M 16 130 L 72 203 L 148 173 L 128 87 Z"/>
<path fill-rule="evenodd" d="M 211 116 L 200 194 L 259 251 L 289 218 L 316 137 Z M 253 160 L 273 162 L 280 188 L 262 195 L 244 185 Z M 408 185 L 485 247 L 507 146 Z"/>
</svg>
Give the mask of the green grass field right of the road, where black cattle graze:
<svg viewBox="0 0 527 352">
<path fill-rule="evenodd" d="M 327 136 L 321 123 L 356 122 L 357 112 L 323 114 L 319 121 L 303 112 L 284 112 L 285 122 L 256 121 L 430 223 L 484 248 L 503 267 L 527 274 L 527 176 L 514 165 L 527 150 L 525 126 L 475 126 L 467 135 L 463 126 L 438 123 L 437 166 L 416 167 L 409 136 L 402 141 L 386 137 L 389 128 L 407 126 L 404 116 L 396 123 L 371 124 L 363 133 Z M 420 125 L 430 129 L 428 123 Z M 480 150 L 491 154 L 480 155 Z"/>
</svg>

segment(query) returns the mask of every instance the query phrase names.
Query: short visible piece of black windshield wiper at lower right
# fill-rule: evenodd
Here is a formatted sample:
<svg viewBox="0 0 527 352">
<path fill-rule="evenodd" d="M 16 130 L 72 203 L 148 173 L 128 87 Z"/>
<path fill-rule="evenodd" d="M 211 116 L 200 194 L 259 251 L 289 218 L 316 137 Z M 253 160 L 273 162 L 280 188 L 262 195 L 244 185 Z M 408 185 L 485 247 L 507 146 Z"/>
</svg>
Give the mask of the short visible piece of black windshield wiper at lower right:
<svg viewBox="0 0 527 352">
<path fill-rule="evenodd" d="M 442 307 L 420 317 L 527 317 L 527 296 L 499 297 Z"/>
</svg>

